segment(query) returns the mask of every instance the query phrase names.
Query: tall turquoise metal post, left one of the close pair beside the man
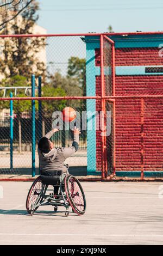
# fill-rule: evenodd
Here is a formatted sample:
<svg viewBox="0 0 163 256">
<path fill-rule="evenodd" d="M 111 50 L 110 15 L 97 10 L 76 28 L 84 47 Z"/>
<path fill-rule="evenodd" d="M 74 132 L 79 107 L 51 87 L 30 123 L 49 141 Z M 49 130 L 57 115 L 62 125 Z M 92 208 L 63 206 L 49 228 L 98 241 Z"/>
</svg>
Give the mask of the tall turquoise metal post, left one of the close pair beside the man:
<svg viewBox="0 0 163 256">
<path fill-rule="evenodd" d="M 35 97 L 35 76 L 31 77 L 32 97 Z M 32 176 L 35 176 L 35 100 L 32 100 Z"/>
</svg>

